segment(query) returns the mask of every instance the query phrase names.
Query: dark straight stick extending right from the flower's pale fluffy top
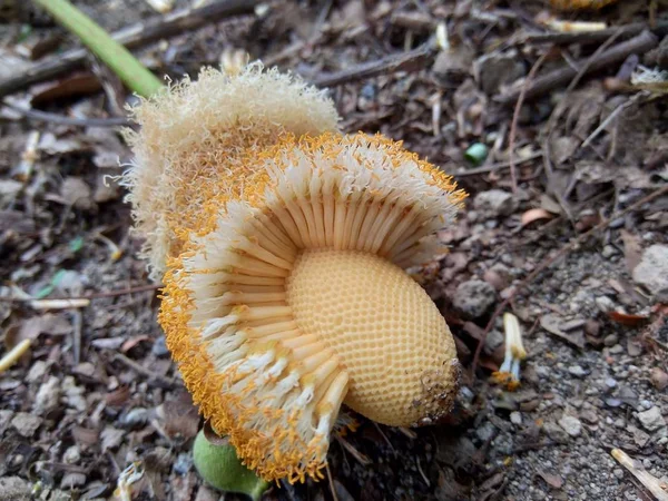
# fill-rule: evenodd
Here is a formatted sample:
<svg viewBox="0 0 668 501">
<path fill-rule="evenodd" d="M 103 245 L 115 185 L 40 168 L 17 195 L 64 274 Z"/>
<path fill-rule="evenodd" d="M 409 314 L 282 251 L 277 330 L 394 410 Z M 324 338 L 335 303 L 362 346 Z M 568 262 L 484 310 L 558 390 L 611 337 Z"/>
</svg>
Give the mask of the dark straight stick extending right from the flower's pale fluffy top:
<svg viewBox="0 0 668 501">
<path fill-rule="evenodd" d="M 313 84 L 316 87 L 336 87 L 342 84 L 364 80 L 380 75 L 414 71 L 424 68 L 434 57 L 435 52 L 435 47 L 428 42 L 407 52 L 387 56 L 377 61 L 363 62 L 362 65 L 335 73 L 323 75 L 316 78 Z"/>
</svg>

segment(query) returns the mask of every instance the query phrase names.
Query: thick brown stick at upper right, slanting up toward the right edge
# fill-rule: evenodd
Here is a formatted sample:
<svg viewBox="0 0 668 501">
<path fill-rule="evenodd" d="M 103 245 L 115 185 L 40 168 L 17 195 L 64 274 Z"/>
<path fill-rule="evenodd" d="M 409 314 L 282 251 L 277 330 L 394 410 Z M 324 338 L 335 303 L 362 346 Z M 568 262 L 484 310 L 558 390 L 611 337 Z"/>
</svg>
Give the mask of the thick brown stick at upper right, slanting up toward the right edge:
<svg viewBox="0 0 668 501">
<path fill-rule="evenodd" d="M 650 49 L 654 49 L 658 43 L 659 40 L 651 31 L 642 31 L 637 37 L 620 42 L 602 52 L 600 57 L 587 68 L 587 73 L 606 68 L 616 62 L 621 62 L 632 53 L 645 53 Z M 557 87 L 570 82 L 577 76 L 578 69 L 572 68 L 570 65 L 564 65 L 559 69 L 550 71 L 548 75 L 537 78 L 527 89 L 524 99 L 534 99 L 542 96 Z M 499 95 L 494 99 L 502 105 L 511 105 L 518 100 L 520 92 L 521 90 L 513 90 L 509 94 Z"/>
</svg>

